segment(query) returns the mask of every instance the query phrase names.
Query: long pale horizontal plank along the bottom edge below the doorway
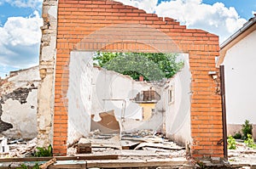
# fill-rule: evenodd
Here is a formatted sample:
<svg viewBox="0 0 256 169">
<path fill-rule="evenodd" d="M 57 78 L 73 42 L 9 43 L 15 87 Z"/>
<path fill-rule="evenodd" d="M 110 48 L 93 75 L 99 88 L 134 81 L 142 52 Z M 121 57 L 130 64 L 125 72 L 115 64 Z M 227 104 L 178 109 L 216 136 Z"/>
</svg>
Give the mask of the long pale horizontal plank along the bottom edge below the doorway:
<svg viewBox="0 0 256 169">
<path fill-rule="evenodd" d="M 99 167 L 99 168 L 122 168 L 122 167 L 152 167 L 152 166 L 183 166 L 187 164 L 187 161 L 174 161 L 174 160 L 130 160 L 130 161 L 84 161 L 84 164 L 76 164 L 75 161 L 73 164 L 55 164 L 49 166 L 49 169 L 55 168 L 85 168 L 85 167 Z"/>
</svg>

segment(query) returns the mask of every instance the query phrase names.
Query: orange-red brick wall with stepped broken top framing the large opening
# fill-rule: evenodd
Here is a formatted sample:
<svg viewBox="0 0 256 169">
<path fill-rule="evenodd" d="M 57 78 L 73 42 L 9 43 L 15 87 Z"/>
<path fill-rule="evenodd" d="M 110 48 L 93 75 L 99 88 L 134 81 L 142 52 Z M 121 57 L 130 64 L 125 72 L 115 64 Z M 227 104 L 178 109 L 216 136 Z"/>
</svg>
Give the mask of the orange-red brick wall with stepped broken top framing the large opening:
<svg viewBox="0 0 256 169">
<path fill-rule="evenodd" d="M 68 64 L 70 52 L 181 52 L 189 54 L 191 136 L 194 157 L 223 157 L 221 98 L 208 71 L 217 71 L 218 37 L 186 29 L 170 18 L 110 0 L 59 0 L 55 71 L 54 154 L 67 153 Z M 124 34 L 124 32 L 126 32 Z"/>
</svg>

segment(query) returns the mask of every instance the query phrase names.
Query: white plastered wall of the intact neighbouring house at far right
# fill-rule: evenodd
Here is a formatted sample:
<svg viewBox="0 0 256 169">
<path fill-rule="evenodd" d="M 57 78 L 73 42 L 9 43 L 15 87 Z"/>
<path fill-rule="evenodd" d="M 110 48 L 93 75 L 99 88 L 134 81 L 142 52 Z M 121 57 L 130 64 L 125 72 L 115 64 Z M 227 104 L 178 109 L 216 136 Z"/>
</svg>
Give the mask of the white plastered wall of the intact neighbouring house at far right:
<svg viewBox="0 0 256 169">
<path fill-rule="evenodd" d="M 230 48 L 224 58 L 228 124 L 256 124 L 256 31 Z"/>
</svg>

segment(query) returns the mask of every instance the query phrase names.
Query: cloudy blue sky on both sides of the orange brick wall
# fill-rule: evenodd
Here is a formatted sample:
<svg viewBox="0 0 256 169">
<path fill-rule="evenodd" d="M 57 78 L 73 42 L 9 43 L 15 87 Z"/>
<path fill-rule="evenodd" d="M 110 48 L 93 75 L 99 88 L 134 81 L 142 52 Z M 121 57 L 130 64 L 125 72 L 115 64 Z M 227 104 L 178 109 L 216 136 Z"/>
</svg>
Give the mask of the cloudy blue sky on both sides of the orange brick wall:
<svg viewBox="0 0 256 169">
<path fill-rule="evenodd" d="M 256 0 L 116 0 L 217 34 L 220 42 L 256 12 Z M 38 65 L 43 0 L 0 0 L 0 76 Z"/>
</svg>

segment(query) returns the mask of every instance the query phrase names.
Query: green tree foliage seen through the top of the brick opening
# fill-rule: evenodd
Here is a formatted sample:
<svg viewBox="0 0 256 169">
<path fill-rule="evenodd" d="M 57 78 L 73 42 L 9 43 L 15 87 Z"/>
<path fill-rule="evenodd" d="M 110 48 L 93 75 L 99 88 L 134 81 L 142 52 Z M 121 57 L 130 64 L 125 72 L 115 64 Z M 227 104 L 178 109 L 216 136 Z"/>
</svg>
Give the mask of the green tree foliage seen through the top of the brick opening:
<svg viewBox="0 0 256 169">
<path fill-rule="evenodd" d="M 147 81 L 159 81 L 174 76 L 183 67 L 177 62 L 177 54 L 151 53 L 100 53 L 94 57 L 95 64 L 114 70 L 133 79 L 143 76 Z"/>
</svg>

